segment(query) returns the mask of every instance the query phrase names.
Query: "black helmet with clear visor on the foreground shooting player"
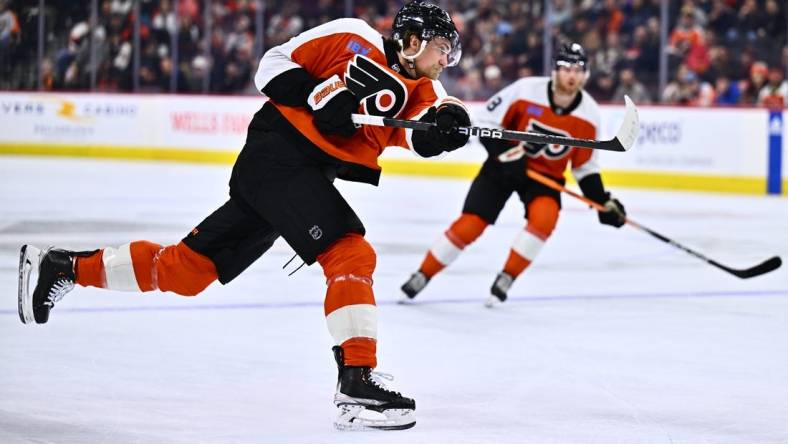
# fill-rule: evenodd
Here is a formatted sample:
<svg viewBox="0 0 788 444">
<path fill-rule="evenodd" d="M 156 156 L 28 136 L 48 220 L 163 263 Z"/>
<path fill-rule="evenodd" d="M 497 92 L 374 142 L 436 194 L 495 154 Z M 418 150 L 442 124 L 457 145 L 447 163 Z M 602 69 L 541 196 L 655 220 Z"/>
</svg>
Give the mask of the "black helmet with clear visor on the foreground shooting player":
<svg viewBox="0 0 788 444">
<path fill-rule="evenodd" d="M 412 61 L 421 54 L 424 45 L 435 37 L 444 37 L 451 43 L 451 51 L 448 54 L 448 66 L 455 66 L 460 62 L 462 47 L 460 45 L 460 34 L 454 26 L 449 13 L 441 7 L 421 0 L 405 4 L 397 15 L 394 16 L 394 24 L 391 27 L 391 38 L 400 42 L 405 47 L 404 39 L 408 31 L 415 33 L 422 41 L 422 49 L 406 59 Z"/>
</svg>

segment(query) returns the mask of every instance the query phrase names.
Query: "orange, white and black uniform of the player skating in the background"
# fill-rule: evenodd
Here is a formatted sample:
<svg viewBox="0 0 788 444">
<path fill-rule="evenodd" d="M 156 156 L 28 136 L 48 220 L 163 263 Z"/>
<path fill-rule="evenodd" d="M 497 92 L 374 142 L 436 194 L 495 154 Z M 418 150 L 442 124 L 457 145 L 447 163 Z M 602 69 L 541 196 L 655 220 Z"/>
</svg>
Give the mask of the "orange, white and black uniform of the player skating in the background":
<svg viewBox="0 0 788 444">
<path fill-rule="evenodd" d="M 548 77 L 520 79 L 489 99 L 476 122 L 483 127 L 596 139 L 600 125 L 596 101 L 581 90 L 568 107 L 561 108 L 553 103 L 551 88 Z M 427 279 L 452 263 L 489 224 L 495 223 L 513 193 L 519 195 L 525 207 L 527 224 L 512 241 L 503 271 L 516 278 L 531 264 L 555 229 L 561 196 L 528 178 L 526 168 L 564 183 L 564 171 L 571 167 L 587 197 L 600 203 L 607 199 L 594 150 L 523 143 L 526 161 L 504 163 L 498 160 L 498 155 L 514 148 L 514 142 L 482 139 L 482 144 L 490 156 L 471 184 L 462 214 L 439 236 L 424 258 L 419 271 Z"/>
</svg>

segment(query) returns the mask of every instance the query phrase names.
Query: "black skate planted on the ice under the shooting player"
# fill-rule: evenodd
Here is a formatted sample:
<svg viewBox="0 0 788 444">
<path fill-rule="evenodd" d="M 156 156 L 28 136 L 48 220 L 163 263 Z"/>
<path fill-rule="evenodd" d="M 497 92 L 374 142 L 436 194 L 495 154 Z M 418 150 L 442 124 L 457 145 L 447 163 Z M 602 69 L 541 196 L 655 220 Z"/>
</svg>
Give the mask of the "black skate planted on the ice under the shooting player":
<svg viewBox="0 0 788 444">
<path fill-rule="evenodd" d="M 345 365 L 342 347 L 334 347 L 339 377 L 334 404 L 339 430 L 404 430 L 416 425 L 416 402 L 388 390 L 377 379 L 389 375 L 373 373 L 369 367 Z"/>
</svg>

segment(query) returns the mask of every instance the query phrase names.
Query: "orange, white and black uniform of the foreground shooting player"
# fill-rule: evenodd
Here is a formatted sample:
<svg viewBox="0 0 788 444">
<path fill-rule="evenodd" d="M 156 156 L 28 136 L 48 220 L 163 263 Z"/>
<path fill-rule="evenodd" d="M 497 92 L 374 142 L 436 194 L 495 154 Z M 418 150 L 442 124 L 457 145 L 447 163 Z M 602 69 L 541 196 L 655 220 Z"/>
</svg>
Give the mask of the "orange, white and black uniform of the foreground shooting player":
<svg viewBox="0 0 788 444">
<path fill-rule="evenodd" d="M 377 184 L 386 147 L 416 153 L 411 130 L 363 126 L 324 135 L 314 110 L 347 88 L 358 113 L 419 119 L 452 101 L 440 82 L 398 72 L 396 45 L 357 19 L 339 19 L 269 49 L 255 84 L 269 97 L 249 126 L 230 180 L 230 199 L 177 245 L 136 241 L 77 259 L 76 281 L 125 291 L 196 295 L 228 283 L 283 237 L 323 268 L 328 329 L 349 366 L 376 365 L 376 255 L 333 176 Z M 335 80 L 332 80 L 335 79 Z M 454 99 L 456 100 L 456 99 Z M 351 105 L 354 105 L 351 102 Z M 434 113 L 433 113 L 434 114 Z"/>
</svg>

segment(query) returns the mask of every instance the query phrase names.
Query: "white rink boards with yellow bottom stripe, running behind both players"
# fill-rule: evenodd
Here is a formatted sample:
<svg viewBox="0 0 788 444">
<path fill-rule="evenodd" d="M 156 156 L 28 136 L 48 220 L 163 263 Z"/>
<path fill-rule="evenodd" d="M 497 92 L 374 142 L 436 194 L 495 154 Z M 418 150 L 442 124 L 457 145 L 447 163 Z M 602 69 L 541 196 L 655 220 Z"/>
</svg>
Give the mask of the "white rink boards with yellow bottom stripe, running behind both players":
<svg viewBox="0 0 788 444">
<path fill-rule="evenodd" d="M 0 154 L 230 163 L 264 100 L 0 93 Z M 471 103 L 471 113 L 482 106 Z M 601 137 L 612 137 L 623 107 L 603 106 L 602 113 Z M 775 152 L 774 137 L 785 139 L 785 125 L 779 119 L 778 128 L 766 110 L 639 107 L 639 113 L 641 130 L 634 148 L 601 153 L 608 183 L 763 193 L 767 178 L 782 181 L 782 173 L 775 179 L 774 171 L 786 171 L 786 156 L 777 155 L 783 144 Z M 469 147 L 439 159 L 419 159 L 391 148 L 381 165 L 390 174 L 472 177 L 485 157 L 478 140 L 472 140 Z M 775 167 L 776 159 L 782 168 Z"/>
</svg>

